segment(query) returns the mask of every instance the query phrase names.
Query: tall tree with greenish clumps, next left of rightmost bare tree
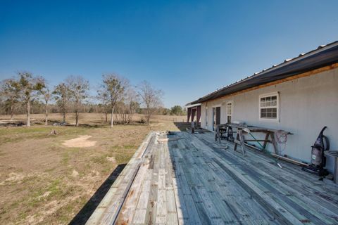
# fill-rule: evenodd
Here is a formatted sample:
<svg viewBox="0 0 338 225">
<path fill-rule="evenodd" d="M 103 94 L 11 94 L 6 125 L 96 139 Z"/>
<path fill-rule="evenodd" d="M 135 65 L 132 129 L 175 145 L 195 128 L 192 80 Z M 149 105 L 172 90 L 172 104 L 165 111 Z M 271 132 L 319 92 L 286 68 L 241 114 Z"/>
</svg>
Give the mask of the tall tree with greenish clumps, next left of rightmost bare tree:
<svg viewBox="0 0 338 225">
<path fill-rule="evenodd" d="M 129 82 L 127 79 L 115 74 L 104 75 L 103 79 L 101 89 L 109 99 L 111 106 L 111 127 L 113 127 L 115 105 L 118 101 L 123 100 L 125 89 L 127 88 Z"/>
</svg>

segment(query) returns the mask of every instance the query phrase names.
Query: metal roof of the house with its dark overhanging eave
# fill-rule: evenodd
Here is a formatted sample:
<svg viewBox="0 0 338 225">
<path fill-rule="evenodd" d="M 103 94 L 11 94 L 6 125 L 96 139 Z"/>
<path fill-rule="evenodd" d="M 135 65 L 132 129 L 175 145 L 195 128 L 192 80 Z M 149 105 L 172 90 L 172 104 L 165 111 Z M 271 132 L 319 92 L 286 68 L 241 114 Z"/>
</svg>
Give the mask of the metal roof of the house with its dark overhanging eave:
<svg viewBox="0 0 338 225">
<path fill-rule="evenodd" d="M 338 63 L 338 41 L 318 46 L 317 49 L 307 53 L 301 53 L 295 58 L 286 59 L 283 63 L 273 65 L 271 68 L 262 70 L 261 72 L 256 72 L 249 77 L 234 82 L 222 89 L 218 89 L 187 105 L 211 101 L 236 91 L 242 91 L 261 84 L 267 84 L 278 79 L 292 77 L 334 63 Z"/>
</svg>

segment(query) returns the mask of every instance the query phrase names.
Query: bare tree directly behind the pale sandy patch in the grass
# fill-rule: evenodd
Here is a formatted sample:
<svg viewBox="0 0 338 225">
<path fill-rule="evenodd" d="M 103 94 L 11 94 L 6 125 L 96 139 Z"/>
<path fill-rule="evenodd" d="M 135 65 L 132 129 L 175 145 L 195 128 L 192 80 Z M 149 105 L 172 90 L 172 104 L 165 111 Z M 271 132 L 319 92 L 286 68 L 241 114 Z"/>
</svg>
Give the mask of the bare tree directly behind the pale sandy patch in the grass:
<svg viewBox="0 0 338 225">
<path fill-rule="evenodd" d="M 70 76 L 66 79 L 66 84 L 74 102 L 75 127 L 79 127 L 79 110 L 82 101 L 88 97 L 89 82 L 81 76 Z"/>
</svg>

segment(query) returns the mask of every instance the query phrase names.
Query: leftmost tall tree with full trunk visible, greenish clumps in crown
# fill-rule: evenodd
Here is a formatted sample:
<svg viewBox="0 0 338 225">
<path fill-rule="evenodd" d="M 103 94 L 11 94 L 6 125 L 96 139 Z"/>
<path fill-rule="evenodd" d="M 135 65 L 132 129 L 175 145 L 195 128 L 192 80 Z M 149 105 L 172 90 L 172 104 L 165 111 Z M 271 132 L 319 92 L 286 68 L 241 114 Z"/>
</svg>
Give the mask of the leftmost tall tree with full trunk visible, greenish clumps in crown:
<svg viewBox="0 0 338 225">
<path fill-rule="evenodd" d="M 30 127 L 30 104 L 39 91 L 44 88 L 44 79 L 33 77 L 29 72 L 19 72 L 18 80 L 13 82 L 13 86 L 26 105 L 27 127 Z"/>
</svg>

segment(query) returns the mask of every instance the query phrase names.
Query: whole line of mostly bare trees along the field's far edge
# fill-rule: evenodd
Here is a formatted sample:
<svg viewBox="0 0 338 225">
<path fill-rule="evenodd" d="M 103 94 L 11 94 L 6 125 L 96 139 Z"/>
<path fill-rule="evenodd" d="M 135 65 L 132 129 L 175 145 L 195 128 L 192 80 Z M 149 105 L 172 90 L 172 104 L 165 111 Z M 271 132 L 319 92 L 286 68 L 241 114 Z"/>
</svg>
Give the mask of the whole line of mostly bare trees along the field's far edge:
<svg viewBox="0 0 338 225">
<path fill-rule="evenodd" d="M 51 87 L 42 76 L 18 72 L 17 77 L 1 81 L 0 113 L 11 115 L 11 119 L 15 114 L 25 113 L 27 127 L 30 127 L 31 113 L 44 113 L 45 124 L 48 124 L 49 112 L 61 113 L 63 123 L 68 113 L 74 113 L 76 127 L 79 126 L 80 113 L 103 113 L 105 122 L 108 122 L 110 115 L 111 127 L 115 121 L 132 122 L 135 113 L 145 114 L 147 124 L 154 113 L 186 114 L 180 105 L 163 108 L 163 91 L 146 81 L 133 86 L 125 77 L 108 74 L 102 76 L 96 96 L 89 95 L 89 88 L 88 80 L 81 76 L 69 76 Z"/>
</svg>

